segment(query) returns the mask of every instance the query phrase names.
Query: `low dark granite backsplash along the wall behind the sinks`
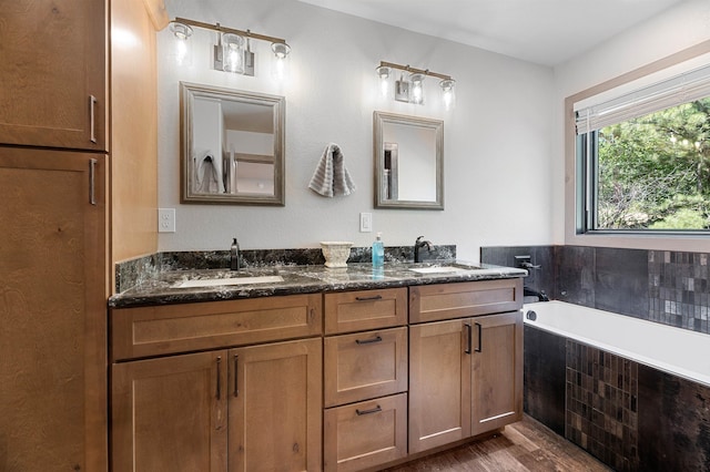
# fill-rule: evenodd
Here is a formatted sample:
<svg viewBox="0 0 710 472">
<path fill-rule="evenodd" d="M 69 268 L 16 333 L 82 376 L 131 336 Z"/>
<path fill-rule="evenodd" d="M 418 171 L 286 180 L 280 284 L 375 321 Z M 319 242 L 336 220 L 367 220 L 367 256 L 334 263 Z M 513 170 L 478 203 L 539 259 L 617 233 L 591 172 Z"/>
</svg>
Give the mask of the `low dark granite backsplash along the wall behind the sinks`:
<svg viewBox="0 0 710 472">
<path fill-rule="evenodd" d="M 253 249 L 240 252 L 243 268 L 312 266 L 325 264 L 321 248 L 304 249 Z M 412 261 L 414 246 L 385 247 L 385 261 Z M 423 261 L 456 259 L 456 245 L 435 245 L 432 250 L 422 252 Z M 369 263 L 371 247 L 352 247 L 348 263 Z M 227 269 L 230 252 L 225 250 L 185 250 L 158 253 L 145 257 L 125 260 L 115 265 L 115 291 L 120 294 L 142 281 L 155 278 L 164 270 L 183 269 Z"/>
</svg>

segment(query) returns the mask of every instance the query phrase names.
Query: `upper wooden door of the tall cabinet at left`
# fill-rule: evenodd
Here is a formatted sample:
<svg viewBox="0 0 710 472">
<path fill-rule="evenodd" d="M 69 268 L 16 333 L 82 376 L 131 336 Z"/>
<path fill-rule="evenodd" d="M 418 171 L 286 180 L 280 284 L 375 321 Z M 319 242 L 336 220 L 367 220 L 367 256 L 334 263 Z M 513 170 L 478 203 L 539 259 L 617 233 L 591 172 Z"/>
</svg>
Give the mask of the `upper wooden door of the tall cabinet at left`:
<svg viewBox="0 0 710 472">
<path fill-rule="evenodd" d="M 106 150 L 105 3 L 2 2 L 0 143 Z"/>
</svg>

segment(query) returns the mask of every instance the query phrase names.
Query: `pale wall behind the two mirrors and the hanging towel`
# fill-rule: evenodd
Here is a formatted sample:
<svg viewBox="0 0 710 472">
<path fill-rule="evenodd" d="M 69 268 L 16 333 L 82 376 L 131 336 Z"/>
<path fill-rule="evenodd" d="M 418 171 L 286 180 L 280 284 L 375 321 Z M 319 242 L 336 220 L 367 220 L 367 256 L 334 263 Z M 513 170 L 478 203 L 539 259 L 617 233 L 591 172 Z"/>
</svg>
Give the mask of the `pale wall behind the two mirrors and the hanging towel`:
<svg viewBox="0 0 710 472">
<path fill-rule="evenodd" d="M 318 247 L 320 240 L 412 245 L 419 235 L 456 244 L 478 260 L 481 245 L 549 244 L 552 239 L 552 70 L 458 43 L 415 34 L 295 0 L 168 0 L 184 17 L 285 38 L 291 80 L 270 78 L 268 43 L 254 42 L 257 78 L 210 70 L 212 33 L 196 30 L 192 66 L 170 58 L 172 35 L 159 33 L 159 205 L 176 208 L 176 233 L 160 234 L 160 250 Z M 202 42 L 202 43 L 201 43 Z M 385 101 L 375 68 L 392 61 L 457 80 L 457 105 Z M 179 82 L 283 94 L 286 98 L 286 206 L 180 204 Z M 427 92 L 436 81 L 429 79 Z M 444 120 L 445 211 L 373 208 L 373 112 Z M 357 191 L 324 198 L 307 188 L 324 147 L 341 145 Z M 359 212 L 374 232 L 359 233 Z"/>
</svg>

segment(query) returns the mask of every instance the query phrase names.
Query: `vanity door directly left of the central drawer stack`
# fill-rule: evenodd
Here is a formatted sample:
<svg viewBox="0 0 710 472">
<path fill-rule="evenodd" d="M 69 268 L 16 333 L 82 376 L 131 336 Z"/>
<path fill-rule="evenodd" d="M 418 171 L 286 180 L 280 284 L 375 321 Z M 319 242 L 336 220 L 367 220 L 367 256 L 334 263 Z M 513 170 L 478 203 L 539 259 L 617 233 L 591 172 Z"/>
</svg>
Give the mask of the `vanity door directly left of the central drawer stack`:
<svg viewBox="0 0 710 472">
<path fill-rule="evenodd" d="M 321 338 L 230 351 L 229 470 L 318 471 Z"/>
</svg>

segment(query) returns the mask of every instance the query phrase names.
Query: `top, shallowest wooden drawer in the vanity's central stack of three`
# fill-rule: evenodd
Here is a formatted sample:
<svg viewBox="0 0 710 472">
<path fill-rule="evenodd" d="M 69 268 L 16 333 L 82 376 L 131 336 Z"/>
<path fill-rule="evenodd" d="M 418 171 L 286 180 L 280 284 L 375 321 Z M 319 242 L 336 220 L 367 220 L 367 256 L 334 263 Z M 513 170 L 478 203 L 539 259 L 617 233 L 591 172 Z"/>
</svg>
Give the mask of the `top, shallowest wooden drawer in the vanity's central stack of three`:
<svg viewBox="0 0 710 472">
<path fill-rule="evenodd" d="M 325 294 L 325 334 L 389 328 L 407 324 L 407 289 Z"/>
</svg>

